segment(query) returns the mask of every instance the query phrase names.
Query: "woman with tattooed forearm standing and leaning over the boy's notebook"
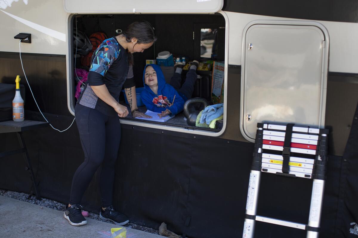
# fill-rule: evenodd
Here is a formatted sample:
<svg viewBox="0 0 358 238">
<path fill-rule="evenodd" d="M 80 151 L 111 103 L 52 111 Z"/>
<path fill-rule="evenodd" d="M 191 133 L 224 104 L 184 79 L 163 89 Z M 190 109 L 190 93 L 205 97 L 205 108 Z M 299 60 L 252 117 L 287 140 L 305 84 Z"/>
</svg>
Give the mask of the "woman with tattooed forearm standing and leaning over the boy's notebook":
<svg viewBox="0 0 358 238">
<path fill-rule="evenodd" d="M 71 225 L 87 224 L 79 204 L 93 174 L 100 166 L 100 217 L 118 225 L 129 222 L 124 214 L 114 210 L 112 206 L 115 162 L 121 139 L 119 117 L 128 115 L 127 107 L 119 104 L 118 98 L 127 74 L 131 74 L 128 69 L 133 64 L 132 53 L 143 52 L 155 41 L 151 24 L 139 21 L 130 24 L 119 36 L 103 41 L 93 53 L 88 84 L 75 107 L 84 162 L 74 173 L 70 202 L 63 214 Z M 148 117 L 138 111 L 135 86 L 126 88 L 125 91 L 132 116 Z"/>
</svg>

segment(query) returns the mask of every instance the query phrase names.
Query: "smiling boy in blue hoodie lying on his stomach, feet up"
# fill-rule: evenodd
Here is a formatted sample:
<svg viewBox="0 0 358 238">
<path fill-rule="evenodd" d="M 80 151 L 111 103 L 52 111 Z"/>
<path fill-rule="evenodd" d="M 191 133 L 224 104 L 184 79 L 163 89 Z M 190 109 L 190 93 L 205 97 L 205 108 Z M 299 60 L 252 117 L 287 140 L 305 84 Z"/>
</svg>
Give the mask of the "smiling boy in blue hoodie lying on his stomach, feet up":
<svg viewBox="0 0 358 238">
<path fill-rule="evenodd" d="M 143 72 L 145 90 L 141 98 L 148 110 L 157 112 L 158 116 L 164 117 L 176 115 L 183 111 L 184 102 L 192 97 L 195 80 L 197 80 L 197 67 L 199 62 L 194 60 L 190 65 L 187 78 L 181 85 L 183 63 L 178 62 L 174 66 L 174 75 L 167 84 L 160 67 L 155 64 L 146 65 Z M 175 97 L 175 102 L 174 101 Z"/>
</svg>

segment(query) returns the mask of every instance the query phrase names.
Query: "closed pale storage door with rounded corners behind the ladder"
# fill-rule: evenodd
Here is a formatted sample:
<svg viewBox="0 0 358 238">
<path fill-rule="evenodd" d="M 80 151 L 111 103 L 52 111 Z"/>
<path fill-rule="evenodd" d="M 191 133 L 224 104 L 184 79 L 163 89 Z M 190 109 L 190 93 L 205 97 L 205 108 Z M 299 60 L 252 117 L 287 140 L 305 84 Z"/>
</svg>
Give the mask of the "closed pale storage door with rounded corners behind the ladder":
<svg viewBox="0 0 358 238">
<path fill-rule="evenodd" d="M 241 131 L 246 139 L 253 141 L 263 121 L 323 125 L 328 62 L 323 31 L 313 25 L 255 24 L 244 37 Z"/>
</svg>

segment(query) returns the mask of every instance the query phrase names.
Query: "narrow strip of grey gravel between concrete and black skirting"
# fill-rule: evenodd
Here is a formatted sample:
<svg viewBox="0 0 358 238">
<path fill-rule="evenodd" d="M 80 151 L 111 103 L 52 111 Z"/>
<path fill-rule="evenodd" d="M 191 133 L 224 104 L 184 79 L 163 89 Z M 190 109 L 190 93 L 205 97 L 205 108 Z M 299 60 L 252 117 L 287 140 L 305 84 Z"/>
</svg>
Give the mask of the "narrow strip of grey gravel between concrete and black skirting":
<svg viewBox="0 0 358 238">
<path fill-rule="evenodd" d="M 17 199 L 17 200 L 20 200 L 20 201 L 29 202 L 29 203 L 32 203 L 32 204 L 44 206 L 44 207 L 49 207 L 49 208 L 56 209 L 56 210 L 59 210 L 59 211 L 63 211 L 64 207 L 66 206 L 65 204 L 63 204 L 61 202 L 57 202 L 57 201 L 53 201 L 53 200 L 45 199 L 45 198 L 42 198 L 39 201 L 39 200 L 36 199 L 36 197 L 34 195 L 29 195 L 29 194 L 23 193 L 23 192 L 13 192 L 13 191 L 0 189 L 0 195 L 5 196 L 5 197 L 10 197 L 10 198 L 13 198 L 13 199 Z M 88 213 L 88 218 L 92 218 L 92 219 L 103 221 L 103 222 L 112 223 L 111 221 L 104 221 L 104 220 L 100 219 L 100 216 L 98 214 L 95 214 L 95 213 Z M 141 225 L 136 225 L 134 223 L 128 223 L 124 227 L 132 228 L 132 229 L 136 229 L 136 230 L 142 230 L 144 232 L 149 232 L 149 233 L 152 233 L 152 234 L 159 235 L 159 231 L 156 230 L 156 229 L 149 228 L 149 227 L 142 227 Z"/>
</svg>

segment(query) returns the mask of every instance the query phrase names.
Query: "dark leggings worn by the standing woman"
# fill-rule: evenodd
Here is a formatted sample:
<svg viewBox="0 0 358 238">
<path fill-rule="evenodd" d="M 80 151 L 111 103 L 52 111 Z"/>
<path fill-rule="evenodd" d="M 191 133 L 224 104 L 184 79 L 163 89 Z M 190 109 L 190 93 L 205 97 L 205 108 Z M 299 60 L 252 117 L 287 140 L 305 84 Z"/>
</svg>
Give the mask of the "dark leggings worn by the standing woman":
<svg viewBox="0 0 358 238">
<path fill-rule="evenodd" d="M 112 205 L 115 163 L 121 141 L 118 116 L 106 116 L 96 109 L 77 104 L 76 123 L 84 152 L 84 162 L 73 175 L 70 204 L 80 204 L 93 174 L 101 166 L 101 205 Z"/>
</svg>

